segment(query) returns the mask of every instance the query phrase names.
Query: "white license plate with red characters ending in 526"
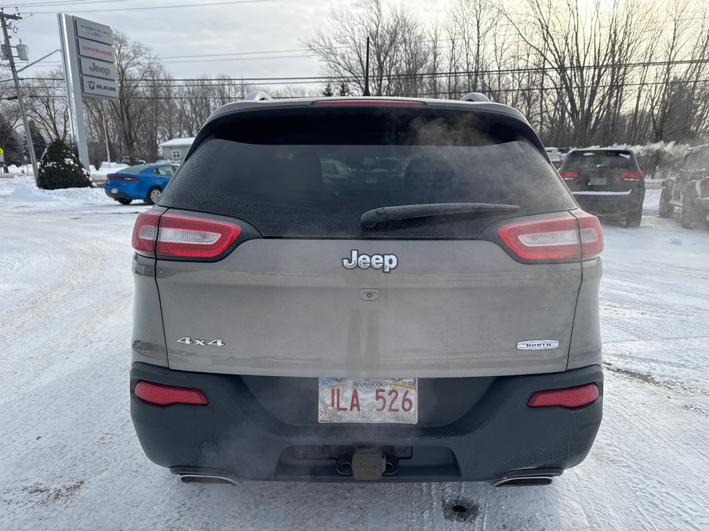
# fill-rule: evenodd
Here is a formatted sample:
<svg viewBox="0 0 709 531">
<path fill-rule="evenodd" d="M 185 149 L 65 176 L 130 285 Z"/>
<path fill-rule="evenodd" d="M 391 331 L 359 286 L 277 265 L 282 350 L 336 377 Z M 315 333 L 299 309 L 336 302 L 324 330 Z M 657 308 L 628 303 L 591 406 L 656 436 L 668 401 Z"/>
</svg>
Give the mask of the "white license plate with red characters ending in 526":
<svg viewBox="0 0 709 531">
<path fill-rule="evenodd" d="M 416 378 L 320 378 L 318 422 L 415 424 Z"/>
</svg>

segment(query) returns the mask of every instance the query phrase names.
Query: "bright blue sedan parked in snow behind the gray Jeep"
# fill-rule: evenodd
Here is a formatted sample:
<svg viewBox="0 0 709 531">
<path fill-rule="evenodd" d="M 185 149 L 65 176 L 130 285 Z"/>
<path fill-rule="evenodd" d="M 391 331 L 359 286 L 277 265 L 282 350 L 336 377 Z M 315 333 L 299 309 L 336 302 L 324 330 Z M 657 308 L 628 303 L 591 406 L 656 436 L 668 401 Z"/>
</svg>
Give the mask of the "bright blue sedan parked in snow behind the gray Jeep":
<svg viewBox="0 0 709 531">
<path fill-rule="evenodd" d="M 134 199 L 144 200 L 148 205 L 155 205 L 160 200 L 162 190 L 177 171 L 174 164 L 138 164 L 118 173 L 106 176 L 106 195 L 129 205 Z"/>
</svg>

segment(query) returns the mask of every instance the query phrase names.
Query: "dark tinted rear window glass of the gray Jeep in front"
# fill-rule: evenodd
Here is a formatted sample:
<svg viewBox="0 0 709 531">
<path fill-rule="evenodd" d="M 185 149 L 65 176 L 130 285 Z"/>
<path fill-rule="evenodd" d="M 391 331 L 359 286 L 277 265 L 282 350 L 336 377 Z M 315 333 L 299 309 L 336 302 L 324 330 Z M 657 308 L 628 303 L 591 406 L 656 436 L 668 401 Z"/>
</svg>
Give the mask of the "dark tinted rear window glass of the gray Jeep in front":
<svg viewBox="0 0 709 531">
<path fill-rule="evenodd" d="M 544 154 L 513 127 L 460 111 L 312 114 L 218 127 L 160 205 L 244 219 L 264 236 L 357 238 L 470 237 L 490 222 L 463 215 L 361 227 L 362 214 L 377 207 L 492 202 L 527 215 L 576 206 Z"/>
</svg>

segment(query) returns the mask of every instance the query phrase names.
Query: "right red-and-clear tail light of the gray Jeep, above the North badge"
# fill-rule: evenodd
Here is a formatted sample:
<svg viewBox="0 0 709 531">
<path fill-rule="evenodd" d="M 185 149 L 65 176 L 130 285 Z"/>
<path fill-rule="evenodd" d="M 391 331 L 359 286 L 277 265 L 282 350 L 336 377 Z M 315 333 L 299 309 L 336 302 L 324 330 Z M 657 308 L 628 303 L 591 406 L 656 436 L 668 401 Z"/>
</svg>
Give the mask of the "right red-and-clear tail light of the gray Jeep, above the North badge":
<svg viewBox="0 0 709 531">
<path fill-rule="evenodd" d="M 498 234 L 507 246 L 526 260 L 591 259 L 603 251 L 603 232 L 590 214 L 535 219 L 503 225 Z"/>
</svg>

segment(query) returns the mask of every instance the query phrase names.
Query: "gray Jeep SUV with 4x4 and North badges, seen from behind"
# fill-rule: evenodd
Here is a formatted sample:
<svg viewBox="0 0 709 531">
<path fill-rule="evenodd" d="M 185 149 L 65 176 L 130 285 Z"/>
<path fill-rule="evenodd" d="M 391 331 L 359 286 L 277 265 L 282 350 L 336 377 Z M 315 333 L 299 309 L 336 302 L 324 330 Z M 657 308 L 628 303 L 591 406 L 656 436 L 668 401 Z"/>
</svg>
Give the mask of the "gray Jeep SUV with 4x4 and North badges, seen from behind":
<svg viewBox="0 0 709 531">
<path fill-rule="evenodd" d="M 540 485 L 591 449 L 601 226 L 513 108 L 225 105 L 133 247 L 131 415 L 182 481 Z"/>
</svg>

